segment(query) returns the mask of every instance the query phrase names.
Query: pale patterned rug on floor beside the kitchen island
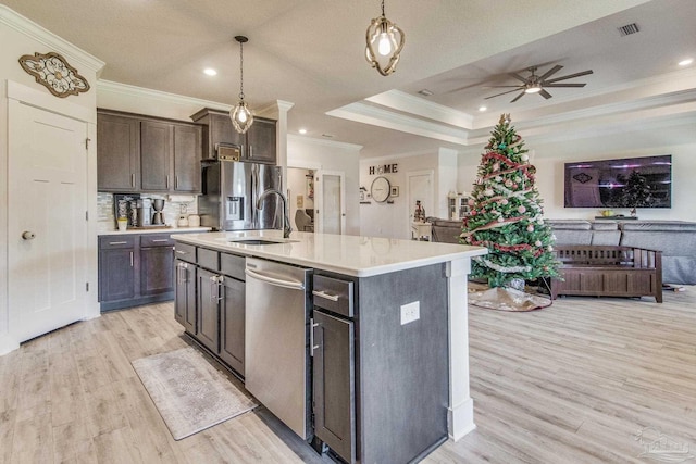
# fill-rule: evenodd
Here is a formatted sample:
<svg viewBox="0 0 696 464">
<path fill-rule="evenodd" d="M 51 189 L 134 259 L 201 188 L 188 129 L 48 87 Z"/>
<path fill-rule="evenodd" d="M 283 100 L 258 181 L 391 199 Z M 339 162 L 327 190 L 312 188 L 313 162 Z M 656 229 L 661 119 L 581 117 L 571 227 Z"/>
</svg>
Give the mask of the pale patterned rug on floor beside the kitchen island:
<svg viewBox="0 0 696 464">
<path fill-rule="evenodd" d="M 132 364 L 175 440 L 258 406 L 191 347 Z"/>
</svg>

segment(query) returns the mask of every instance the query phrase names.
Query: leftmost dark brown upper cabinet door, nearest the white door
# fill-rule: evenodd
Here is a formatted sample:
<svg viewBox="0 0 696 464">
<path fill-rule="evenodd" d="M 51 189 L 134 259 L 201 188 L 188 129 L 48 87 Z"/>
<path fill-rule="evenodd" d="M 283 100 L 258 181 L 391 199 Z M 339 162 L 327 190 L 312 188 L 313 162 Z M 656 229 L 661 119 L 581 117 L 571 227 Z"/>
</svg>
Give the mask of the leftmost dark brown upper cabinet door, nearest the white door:
<svg viewBox="0 0 696 464">
<path fill-rule="evenodd" d="M 97 113 L 97 179 L 101 191 L 136 191 L 139 187 L 138 120 Z"/>
</svg>

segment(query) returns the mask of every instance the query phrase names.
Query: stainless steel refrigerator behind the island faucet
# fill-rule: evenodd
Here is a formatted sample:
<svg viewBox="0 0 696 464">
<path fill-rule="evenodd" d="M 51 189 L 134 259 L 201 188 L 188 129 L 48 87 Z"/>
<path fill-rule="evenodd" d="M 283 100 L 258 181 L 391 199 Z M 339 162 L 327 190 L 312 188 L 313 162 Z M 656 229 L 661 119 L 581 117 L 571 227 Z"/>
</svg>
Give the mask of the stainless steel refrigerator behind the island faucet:
<svg viewBox="0 0 696 464">
<path fill-rule="evenodd" d="M 283 203 L 278 196 L 263 199 L 266 189 L 281 190 L 282 172 L 277 166 L 237 161 L 203 161 L 202 193 L 198 197 L 200 225 L 214 230 L 260 230 L 283 228 Z"/>
</svg>

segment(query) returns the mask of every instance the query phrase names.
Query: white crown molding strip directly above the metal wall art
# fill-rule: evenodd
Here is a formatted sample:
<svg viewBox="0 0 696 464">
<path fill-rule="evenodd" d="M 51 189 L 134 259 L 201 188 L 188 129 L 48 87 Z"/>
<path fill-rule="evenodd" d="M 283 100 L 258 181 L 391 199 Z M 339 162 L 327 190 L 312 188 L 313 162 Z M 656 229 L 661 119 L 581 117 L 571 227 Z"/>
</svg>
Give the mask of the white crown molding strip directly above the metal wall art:
<svg viewBox="0 0 696 464">
<path fill-rule="evenodd" d="M 99 77 L 104 67 L 104 62 L 98 58 L 87 53 L 85 50 L 75 47 L 67 40 L 57 36 L 50 30 L 39 26 L 27 17 L 11 10 L 4 4 L 0 4 L 0 24 L 23 34 L 30 39 L 38 41 L 47 47 L 50 51 L 55 51 L 66 59 L 70 59 L 71 65 L 75 67 L 86 67 L 92 71 Z"/>
</svg>

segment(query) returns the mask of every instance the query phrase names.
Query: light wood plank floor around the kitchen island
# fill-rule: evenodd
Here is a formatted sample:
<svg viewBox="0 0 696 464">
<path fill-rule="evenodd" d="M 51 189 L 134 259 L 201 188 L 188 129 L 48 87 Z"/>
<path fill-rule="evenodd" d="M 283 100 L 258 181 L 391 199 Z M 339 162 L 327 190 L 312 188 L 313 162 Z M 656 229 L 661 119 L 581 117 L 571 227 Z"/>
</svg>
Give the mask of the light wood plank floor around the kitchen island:
<svg viewBox="0 0 696 464">
<path fill-rule="evenodd" d="M 645 463 L 635 436 L 655 429 L 696 454 L 696 287 L 650 300 L 472 306 L 477 428 L 425 462 Z M 172 304 L 153 304 L 0 356 L 0 462 L 328 462 L 262 407 L 174 441 L 130 361 L 185 347 L 181 334 Z"/>
</svg>

